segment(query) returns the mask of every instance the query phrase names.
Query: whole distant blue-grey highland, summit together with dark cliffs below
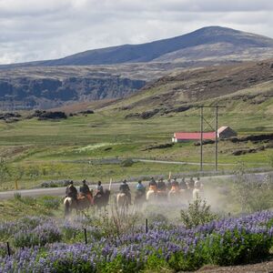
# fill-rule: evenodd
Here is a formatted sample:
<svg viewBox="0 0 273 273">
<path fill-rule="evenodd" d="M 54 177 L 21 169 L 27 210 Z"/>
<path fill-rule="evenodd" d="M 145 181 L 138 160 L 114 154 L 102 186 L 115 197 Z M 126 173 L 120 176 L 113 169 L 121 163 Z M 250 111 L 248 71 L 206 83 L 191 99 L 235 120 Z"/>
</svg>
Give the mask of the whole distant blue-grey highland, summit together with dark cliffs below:
<svg viewBox="0 0 273 273">
<path fill-rule="evenodd" d="M 51 108 L 120 98 L 189 68 L 273 57 L 273 39 L 220 26 L 141 45 L 0 66 L 0 107 Z M 206 70 L 206 69 L 205 69 Z"/>
</svg>

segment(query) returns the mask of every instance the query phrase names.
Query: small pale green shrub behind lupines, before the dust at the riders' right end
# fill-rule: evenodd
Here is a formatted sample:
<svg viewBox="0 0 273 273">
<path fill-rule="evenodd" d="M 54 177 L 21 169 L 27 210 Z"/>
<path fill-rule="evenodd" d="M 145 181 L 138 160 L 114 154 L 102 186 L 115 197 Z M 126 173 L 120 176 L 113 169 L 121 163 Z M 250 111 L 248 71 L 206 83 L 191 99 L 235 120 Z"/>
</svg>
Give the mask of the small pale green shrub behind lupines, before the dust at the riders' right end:
<svg viewBox="0 0 273 273">
<path fill-rule="evenodd" d="M 187 210 L 181 210 L 181 221 L 187 228 L 197 227 L 217 219 L 217 215 L 210 211 L 205 200 L 197 198 L 188 204 Z"/>
</svg>

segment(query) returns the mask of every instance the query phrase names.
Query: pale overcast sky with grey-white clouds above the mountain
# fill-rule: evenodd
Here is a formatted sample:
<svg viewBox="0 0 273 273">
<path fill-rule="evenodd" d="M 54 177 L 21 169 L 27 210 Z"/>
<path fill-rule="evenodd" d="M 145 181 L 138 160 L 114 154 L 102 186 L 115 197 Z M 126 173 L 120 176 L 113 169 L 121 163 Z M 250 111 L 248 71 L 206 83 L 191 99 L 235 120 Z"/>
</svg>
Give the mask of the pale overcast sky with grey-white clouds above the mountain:
<svg viewBox="0 0 273 273">
<path fill-rule="evenodd" d="M 0 64 L 221 25 L 273 38 L 272 0 L 0 0 Z"/>
</svg>

